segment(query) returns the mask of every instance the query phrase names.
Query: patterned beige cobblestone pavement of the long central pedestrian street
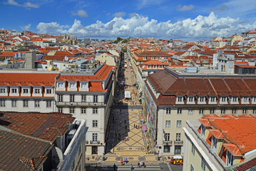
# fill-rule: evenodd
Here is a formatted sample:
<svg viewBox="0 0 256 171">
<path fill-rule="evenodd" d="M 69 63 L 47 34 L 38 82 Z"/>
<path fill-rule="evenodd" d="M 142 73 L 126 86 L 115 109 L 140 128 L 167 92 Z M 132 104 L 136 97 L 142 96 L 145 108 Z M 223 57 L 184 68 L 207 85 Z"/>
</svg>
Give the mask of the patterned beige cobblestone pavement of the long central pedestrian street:
<svg viewBox="0 0 256 171">
<path fill-rule="evenodd" d="M 133 162 L 156 161 L 154 155 L 148 154 L 147 139 L 142 131 L 143 123 L 140 123 L 142 106 L 139 105 L 138 90 L 129 62 L 127 66 L 118 77 L 120 87 L 117 86 L 115 97 L 119 105 L 113 105 L 105 160 L 115 162 L 128 157 Z M 124 99 L 125 91 L 130 91 L 130 100 Z"/>
</svg>

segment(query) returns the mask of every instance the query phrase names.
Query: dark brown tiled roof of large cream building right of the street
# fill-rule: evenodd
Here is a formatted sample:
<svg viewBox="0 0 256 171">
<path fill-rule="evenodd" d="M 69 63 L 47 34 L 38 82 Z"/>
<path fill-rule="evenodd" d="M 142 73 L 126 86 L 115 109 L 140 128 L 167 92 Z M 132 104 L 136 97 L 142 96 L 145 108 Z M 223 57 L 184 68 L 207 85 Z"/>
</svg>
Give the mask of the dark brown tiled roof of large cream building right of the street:
<svg viewBox="0 0 256 171">
<path fill-rule="evenodd" d="M 164 70 L 150 74 L 148 81 L 160 92 L 159 105 L 175 105 L 171 95 L 256 95 L 256 78 L 177 77 Z"/>
</svg>

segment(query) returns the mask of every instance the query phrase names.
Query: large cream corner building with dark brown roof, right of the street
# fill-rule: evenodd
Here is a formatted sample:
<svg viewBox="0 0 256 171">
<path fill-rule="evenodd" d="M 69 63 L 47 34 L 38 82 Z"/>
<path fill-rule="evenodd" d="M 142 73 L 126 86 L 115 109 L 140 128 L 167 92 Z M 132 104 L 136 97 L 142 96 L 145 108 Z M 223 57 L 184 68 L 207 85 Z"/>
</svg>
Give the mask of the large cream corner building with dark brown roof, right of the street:
<svg viewBox="0 0 256 171">
<path fill-rule="evenodd" d="M 145 81 L 150 135 L 160 155 L 183 155 L 185 120 L 256 113 L 256 76 L 181 74 L 170 68 Z"/>
</svg>

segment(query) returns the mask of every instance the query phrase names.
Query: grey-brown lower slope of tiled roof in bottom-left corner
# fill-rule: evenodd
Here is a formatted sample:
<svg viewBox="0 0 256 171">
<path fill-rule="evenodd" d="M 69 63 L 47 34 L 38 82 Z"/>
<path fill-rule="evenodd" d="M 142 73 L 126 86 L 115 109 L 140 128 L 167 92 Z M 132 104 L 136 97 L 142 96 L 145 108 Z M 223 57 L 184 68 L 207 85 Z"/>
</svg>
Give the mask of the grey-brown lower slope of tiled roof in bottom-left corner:
<svg viewBox="0 0 256 171">
<path fill-rule="evenodd" d="M 50 142 L 1 130 L 0 170 L 39 170 L 51 148 Z"/>
</svg>

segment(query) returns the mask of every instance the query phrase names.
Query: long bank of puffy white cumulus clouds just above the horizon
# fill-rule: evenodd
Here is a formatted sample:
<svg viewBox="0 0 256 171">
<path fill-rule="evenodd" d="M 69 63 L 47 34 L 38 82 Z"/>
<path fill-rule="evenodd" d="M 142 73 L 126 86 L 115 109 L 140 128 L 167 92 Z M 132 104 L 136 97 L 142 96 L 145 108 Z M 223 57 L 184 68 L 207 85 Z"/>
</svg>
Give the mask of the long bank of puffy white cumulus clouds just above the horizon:
<svg viewBox="0 0 256 171">
<path fill-rule="evenodd" d="M 181 38 L 188 40 L 202 40 L 213 36 L 229 36 L 234 33 L 255 29 L 254 24 L 241 24 L 239 18 L 217 16 L 212 12 L 209 16 L 197 16 L 195 19 L 184 19 L 171 23 L 149 19 L 148 16 L 133 14 L 129 19 L 114 17 L 108 23 L 96 21 L 95 24 L 83 26 L 81 21 L 75 20 L 71 28 L 53 23 L 40 23 L 39 33 L 73 33 L 78 37 L 116 38 L 150 36 L 156 38 Z"/>
</svg>

